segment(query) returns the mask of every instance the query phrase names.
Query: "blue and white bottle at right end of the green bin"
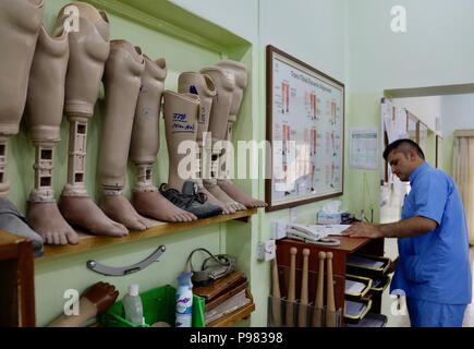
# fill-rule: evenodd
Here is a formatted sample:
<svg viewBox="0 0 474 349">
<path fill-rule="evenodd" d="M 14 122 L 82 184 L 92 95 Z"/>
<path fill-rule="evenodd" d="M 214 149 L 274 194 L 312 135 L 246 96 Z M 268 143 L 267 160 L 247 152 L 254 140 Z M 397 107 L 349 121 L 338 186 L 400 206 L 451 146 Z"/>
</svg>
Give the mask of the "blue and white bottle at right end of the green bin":
<svg viewBox="0 0 474 349">
<path fill-rule="evenodd" d="M 178 277 L 177 290 L 177 327 L 192 327 L 193 318 L 193 282 L 191 272 L 184 272 Z"/>
</svg>

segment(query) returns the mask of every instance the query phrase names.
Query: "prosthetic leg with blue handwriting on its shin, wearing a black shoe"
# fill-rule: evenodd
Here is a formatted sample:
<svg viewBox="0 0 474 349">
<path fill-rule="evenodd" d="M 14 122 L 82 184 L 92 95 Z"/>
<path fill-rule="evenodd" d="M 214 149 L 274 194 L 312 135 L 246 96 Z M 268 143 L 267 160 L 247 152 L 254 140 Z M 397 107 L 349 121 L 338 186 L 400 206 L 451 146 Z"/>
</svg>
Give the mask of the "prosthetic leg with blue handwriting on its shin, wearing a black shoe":
<svg viewBox="0 0 474 349">
<path fill-rule="evenodd" d="M 198 170 L 196 132 L 199 97 L 195 94 L 165 91 L 163 109 L 169 176 L 168 184 L 160 186 L 161 194 L 173 205 L 191 212 L 197 218 L 221 214 L 222 208 L 207 203 L 207 196 L 198 192 L 195 182 Z M 189 151 L 190 154 L 186 154 Z"/>
</svg>

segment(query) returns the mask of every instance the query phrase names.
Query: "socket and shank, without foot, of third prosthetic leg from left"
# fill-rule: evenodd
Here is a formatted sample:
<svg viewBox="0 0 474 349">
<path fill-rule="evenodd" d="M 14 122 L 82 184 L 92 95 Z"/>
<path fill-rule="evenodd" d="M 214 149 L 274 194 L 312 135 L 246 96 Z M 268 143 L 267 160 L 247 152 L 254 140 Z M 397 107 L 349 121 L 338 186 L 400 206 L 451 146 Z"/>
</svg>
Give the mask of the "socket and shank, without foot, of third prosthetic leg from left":
<svg viewBox="0 0 474 349">
<path fill-rule="evenodd" d="M 99 95 L 105 61 L 109 56 L 109 23 L 105 12 L 84 2 L 74 2 L 78 31 L 69 34 L 70 59 L 65 80 L 64 112 L 71 124 L 65 196 L 87 196 L 84 185 L 87 121 L 94 113 Z M 56 31 L 62 31 L 70 19 L 64 7 L 57 19 Z"/>
</svg>

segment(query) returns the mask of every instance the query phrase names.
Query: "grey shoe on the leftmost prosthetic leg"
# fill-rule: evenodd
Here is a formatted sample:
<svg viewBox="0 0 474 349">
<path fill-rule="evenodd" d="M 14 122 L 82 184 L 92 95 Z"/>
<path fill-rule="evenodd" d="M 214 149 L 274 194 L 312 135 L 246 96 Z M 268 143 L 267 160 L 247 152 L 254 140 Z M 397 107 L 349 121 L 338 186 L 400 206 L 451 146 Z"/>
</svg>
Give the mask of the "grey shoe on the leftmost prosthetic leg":
<svg viewBox="0 0 474 349">
<path fill-rule="evenodd" d="M 0 197 L 0 230 L 32 240 L 35 256 L 42 255 L 42 239 L 32 230 L 25 218 L 16 210 L 15 206 L 7 198 Z"/>
</svg>

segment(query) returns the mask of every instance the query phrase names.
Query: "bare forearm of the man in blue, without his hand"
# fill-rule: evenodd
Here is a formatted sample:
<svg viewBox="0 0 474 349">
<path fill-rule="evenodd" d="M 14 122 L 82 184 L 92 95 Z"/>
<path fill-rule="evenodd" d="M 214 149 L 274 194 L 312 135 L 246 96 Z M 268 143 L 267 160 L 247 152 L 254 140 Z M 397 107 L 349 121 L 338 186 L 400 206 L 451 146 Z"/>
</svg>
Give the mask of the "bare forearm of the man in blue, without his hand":
<svg viewBox="0 0 474 349">
<path fill-rule="evenodd" d="M 408 238 L 435 230 L 436 222 L 429 218 L 411 217 L 378 227 L 385 238 Z"/>
</svg>

